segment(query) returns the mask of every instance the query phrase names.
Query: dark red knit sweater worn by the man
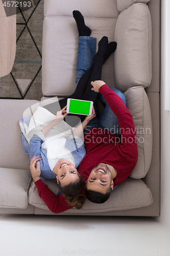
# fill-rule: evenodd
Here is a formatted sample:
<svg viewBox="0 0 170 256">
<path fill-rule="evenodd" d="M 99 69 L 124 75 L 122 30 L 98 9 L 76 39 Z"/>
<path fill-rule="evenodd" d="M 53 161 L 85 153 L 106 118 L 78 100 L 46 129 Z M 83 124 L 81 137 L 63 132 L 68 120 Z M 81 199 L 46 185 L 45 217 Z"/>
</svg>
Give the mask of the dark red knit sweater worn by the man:
<svg viewBox="0 0 170 256">
<path fill-rule="evenodd" d="M 120 142 L 114 134 L 94 127 L 84 136 L 86 156 L 79 167 L 79 174 L 87 180 L 91 170 L 99 163 L 108 163 L 112 165 L 117 176 L 114 186 L 124 181 L 134 169 L 137 158 L 136 131 L 133 123 L 133 117 L 126 108 L 123 100 L 104 84 L 100 93 L 107 100 L 111 110 L 117 116 L 122 141 Z M 42 180 L 35 182 L 38 188 L 39 196 L 43 199 L 48 208 L 58 214 L 62 211 L 72 208 L 65 201 L 63 194 L 57 197 Z M 84 195 L 84 189 L 82 191 Z"/>
</svg>

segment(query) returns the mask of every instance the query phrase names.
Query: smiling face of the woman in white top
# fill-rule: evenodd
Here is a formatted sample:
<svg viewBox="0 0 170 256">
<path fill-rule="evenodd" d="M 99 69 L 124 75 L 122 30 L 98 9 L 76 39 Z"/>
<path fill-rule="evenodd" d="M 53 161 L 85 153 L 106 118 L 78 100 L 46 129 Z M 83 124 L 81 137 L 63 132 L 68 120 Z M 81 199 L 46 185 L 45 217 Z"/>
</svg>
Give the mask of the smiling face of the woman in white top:
<svg viewBox="0 0 170 256">
<path fill-rule="evenodd" d="M 62 185 L 79 179 L 75 165 L 65 159 L 60 159 L 56 163 L 53 172 L 57 175 L 57 182 L 60 181 Z"/>
</svg>

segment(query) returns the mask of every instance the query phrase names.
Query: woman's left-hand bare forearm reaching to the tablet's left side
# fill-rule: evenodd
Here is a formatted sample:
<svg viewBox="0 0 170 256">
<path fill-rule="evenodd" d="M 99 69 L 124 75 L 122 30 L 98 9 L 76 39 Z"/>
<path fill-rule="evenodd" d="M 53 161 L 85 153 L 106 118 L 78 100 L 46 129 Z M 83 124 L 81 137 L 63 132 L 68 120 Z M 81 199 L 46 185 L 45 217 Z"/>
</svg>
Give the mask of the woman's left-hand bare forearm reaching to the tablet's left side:
<svg viewBox="0 0 170 256">
<path fill-rule="evenodd" d="M 42 130 L 41 132 L 43 133 L 44 136 L 46 136 L 50 130 L 56 125 L 58 124 L 59 122 L 61 122 L 63 120 L 63 118 L 67 115 L 66 113 L 66 106 L 64 106 L 64 108 L 60 111 L 57 112 L 57 115 L 56 115 L 56 118 L 51 122 L 49 123 L 48 125 L 46 125 Z"/>
</svg>

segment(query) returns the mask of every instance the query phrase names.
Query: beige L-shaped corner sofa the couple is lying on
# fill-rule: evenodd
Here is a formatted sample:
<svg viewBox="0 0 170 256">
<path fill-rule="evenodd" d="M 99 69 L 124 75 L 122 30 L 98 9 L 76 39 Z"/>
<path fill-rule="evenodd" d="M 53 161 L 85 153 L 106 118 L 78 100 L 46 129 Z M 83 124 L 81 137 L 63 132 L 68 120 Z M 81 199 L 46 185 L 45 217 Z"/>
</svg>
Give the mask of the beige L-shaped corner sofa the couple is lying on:
<svg viewBox="0 0 170 256">
<path fill-rule="evenodd" d="M 22 147 L 18 120 L 37 106 L 74 92 L 78 31 L 72 10 L 80 10 L 97 42 L 103 35 L 117 49 L 103 66 L 102 80 L 123 91 L 137 133 L 138 162 L 104 204 L 86 200 L 62 215 L 159 216 L 160 0 L 44 0 L 43 99 L 0 100 L 0 214 L 52 215 L 32 181 L 29 156 Z M 148 4 L 147 4 L 148 3 Z M 146 5 L 147 4 L 147 5 Z M 47 102 L 47 103 L 46 103 Z M 98 102 L 100 105 L 100 102 Z M 55 181 L 43 180 L 58 193 Z"/>
</svg>

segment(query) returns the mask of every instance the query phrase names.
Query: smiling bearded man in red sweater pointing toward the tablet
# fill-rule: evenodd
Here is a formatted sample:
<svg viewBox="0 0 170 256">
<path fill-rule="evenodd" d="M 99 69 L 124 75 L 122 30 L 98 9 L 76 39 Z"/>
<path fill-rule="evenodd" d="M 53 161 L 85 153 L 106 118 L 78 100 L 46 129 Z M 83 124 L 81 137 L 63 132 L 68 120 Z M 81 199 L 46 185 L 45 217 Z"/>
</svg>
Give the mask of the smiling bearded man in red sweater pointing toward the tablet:
<svg viewBox="0 0 170 256">
<path fill-rule="evenodd" d="M 110 110 L 105 108 L 104 117 L 99 117 L 94 123 L 95 117 L 91 122 L 93 125 L 90 126 L 89 122 L 91 129 L 84 135 L 86 156 L 80 164 L 79 174 L 86 182 L 87 199 L 93 203 L 104 203 L 113 187 L 124 181 L 136 165 L 136 131 L 124 101 L 104 81 L 94 81 L 91 85 L 91 90 L 103 95 L 106 108 Z M 117 129 L 115 116 L 119 124 Z M 118 137 L 119 132 L 121 138 Z"/>
</svg>

